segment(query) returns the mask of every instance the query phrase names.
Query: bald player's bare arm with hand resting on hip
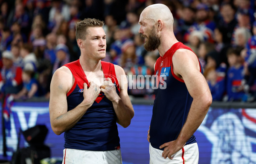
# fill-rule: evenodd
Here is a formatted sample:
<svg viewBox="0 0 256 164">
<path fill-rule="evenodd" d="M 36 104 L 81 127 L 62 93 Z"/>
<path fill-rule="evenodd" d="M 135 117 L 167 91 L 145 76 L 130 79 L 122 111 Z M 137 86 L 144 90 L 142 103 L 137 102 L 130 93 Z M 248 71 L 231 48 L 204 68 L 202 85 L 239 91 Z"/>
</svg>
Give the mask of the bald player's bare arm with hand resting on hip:
<svg viewBox="0 0 256 164">
<path fill-rule="evenodd" d="M 172 62 L 174 73 L 184 80 L 193 102 L 177 139 L 160 146 L 160 148 L 166 147 L 162 156 L 164 158 L 168 156 L 170 159 L 198 129 L 212 103 L 212 95 L 200 72 L 196 55 L 192 51 L 180 49 L 173 55 Z"/>
</svg>

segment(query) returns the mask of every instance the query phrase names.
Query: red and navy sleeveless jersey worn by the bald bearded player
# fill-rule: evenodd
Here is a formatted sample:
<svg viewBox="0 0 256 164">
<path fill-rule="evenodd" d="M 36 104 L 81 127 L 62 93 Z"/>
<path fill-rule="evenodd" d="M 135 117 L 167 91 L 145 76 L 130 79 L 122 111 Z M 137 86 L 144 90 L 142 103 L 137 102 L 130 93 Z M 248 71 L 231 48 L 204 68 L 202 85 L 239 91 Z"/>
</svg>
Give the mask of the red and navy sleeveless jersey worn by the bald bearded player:
<svg viewBox="0 0 256 164">
<path fill-rule="evenodd" d="M 150 143 L 156 149 L 160 149 L 160 145 L 166 142 L 177 139 L 183 124 L 186 122 L 193 101 L 183 79 L 180 79 L 173 72 L 172 56 L 181 48 L 192 51 L 186 45 L 177 42 L 166 51 L 163 57 L 157 59 L 155 65 L 155 75 L 159 78 L 159 81 L 157 82 L 158 88 L 155 90 L 156 98 L 149 135 Z M 201 73 L 202 70 L 200 64 Z M 193 135 L 186 144 L 195 142 L 195 136 Z"/>
</svg>

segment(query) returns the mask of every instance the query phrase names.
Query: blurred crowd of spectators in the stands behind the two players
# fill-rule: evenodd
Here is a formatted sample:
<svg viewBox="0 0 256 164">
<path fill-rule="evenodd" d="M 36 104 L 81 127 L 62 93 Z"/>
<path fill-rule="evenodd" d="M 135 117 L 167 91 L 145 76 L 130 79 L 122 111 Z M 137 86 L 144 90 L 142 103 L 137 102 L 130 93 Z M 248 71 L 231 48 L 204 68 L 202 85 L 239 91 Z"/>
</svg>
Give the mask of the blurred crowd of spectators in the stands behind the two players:
<svg viewBox="0 0 256 164">
<path fill-rule="evenodd" d="M 1 95 L 49 98 L 55 70 L 79 59 L 75 24 L 88 17 L 105 22 L 103 60 L 128 76 L 153 75 L 159 53 L 145 51 L 138 20 L 154 3 L 172 11 L 175 36 L 198 56 L 214 101 L 255 101 L 254 0 L 0 0 Z M 140 86 L 131 96 L 154 98 L 151 79 L 129 83 Z"/>
</svg>

